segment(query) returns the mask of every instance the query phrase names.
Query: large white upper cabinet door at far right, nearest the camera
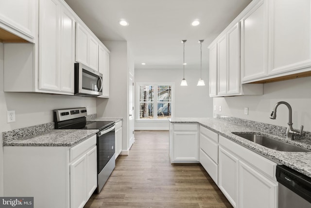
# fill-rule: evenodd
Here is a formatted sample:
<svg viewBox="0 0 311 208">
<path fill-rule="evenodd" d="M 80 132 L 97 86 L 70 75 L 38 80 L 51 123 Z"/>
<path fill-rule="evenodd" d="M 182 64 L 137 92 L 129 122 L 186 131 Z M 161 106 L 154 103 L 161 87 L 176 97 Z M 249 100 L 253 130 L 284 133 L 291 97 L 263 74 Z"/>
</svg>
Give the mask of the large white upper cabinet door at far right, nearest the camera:
<svg viewBox="0 0 311 208">
<path fill-rule="evenodd" d="M 311 1 L 271 0 L 269 74 L 311 65 Z"/>
</svg>

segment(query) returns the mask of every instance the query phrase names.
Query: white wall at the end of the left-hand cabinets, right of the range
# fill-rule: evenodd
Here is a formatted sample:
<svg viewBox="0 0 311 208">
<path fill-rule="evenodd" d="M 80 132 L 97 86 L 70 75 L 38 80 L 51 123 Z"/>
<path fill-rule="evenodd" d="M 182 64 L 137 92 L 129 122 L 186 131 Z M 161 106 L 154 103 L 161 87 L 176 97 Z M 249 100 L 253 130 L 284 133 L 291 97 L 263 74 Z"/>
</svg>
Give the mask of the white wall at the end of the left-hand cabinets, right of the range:
<svg viewBox="0 0 311 208">
<path fill-rule="evenodd" d="M 127 43 L 126 41 L 104 41 L 110 51 L 109 98 L 98 98 L 96 102 L 98 117 L 121 117 L 122 150 L 128 150 L 127 124 Z"/>
</svg>

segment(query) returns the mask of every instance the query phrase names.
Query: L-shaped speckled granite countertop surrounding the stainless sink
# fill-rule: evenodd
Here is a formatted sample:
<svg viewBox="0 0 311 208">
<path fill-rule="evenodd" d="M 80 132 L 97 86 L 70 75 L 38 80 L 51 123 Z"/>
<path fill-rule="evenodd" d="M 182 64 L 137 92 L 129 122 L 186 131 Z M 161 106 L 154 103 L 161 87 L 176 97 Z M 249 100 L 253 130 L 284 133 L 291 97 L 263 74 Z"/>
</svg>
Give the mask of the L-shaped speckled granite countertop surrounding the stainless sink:
<svg viewBox="0 0 311 208">
<path fill-rule="evenodd" d="M 240 136 L 232 132 L 260 132 L 263 135 L 273 137 L 274 139 L 281 140 L 308 150 L 311 150 L 310 139 L 288 140 L 281 136 L 276 136 L 271 133 L 266 133 L 258 130 L 257 128 L 244 127 L 242 125 L 234 124 L 218 118 L 171 118 L 172 123 L 198 123 L 213 132 L 216 132 L 254 152 L 257 152 L 268 159 L 275 161 L 278 164 L 286 165 L 294 170 L 297 170 L 309 177 L 311 177 L 311 152 L 288 152 L 276 151 Z"/>
</svg>

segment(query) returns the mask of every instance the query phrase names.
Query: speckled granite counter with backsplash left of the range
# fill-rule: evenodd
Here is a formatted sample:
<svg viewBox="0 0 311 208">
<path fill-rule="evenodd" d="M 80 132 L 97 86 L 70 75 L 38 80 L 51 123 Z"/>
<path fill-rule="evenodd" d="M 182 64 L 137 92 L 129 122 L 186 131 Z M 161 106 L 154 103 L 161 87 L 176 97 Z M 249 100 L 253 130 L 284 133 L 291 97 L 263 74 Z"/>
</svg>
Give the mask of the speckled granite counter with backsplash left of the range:
<svg viewBox="0 0 311 208">
<path fill-rule="evenodd" d="M 95 135 L 98 130 L 57 130 L 54 123 L 3 132 L 3 146 L 71 147 Z"/>
</svg>

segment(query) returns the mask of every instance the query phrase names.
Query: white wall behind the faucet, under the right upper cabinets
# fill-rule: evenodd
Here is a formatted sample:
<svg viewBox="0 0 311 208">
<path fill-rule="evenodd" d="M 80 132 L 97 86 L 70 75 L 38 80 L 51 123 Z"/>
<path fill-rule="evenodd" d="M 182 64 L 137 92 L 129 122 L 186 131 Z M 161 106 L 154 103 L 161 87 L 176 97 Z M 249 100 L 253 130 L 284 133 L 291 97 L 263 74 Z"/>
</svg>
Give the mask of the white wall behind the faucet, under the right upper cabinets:
<svg viewBox="0 0 311 208">
<path fill-rule="evenodd" d="M 270 119 L 270 113 L 278 101 L 288 102 L 293 109 L 293 127 L 311 131 L 311 77 L 297 78 L 263 85 L 263 94 L 257 96 L 234 96 L 214 98 L 214 113 L 244 118 L 263 123 L 287 127 L 288 109 L 285 105 L 277 108 L 276 120 Z M 219 112 L 219 106 L 222 112 Z M 248 107 L 248 115 L 244 115 Z"/>
</svg>

